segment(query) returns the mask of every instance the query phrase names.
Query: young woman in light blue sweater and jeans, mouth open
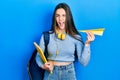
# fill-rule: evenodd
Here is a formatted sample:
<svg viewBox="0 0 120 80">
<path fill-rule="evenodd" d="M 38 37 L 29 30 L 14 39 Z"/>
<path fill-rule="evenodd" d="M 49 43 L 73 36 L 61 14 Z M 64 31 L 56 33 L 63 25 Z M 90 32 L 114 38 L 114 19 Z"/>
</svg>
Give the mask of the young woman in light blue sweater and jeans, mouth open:
<svg viewBox="0 0 120 80">
<path fill-rule="evenodd" d="M 38 66 L 45 69 L 44 80 L 76 80 L 75 51 L 79 62 L 87 65 L 90 59 L 90 42 L 95 39 L 94 34 L 87 32 L 87 40 L 83 43 L 74 25 L 70 8 L 65 3 L 56 6 L 50 31 L 52 33 L 48 44 L 48 62 L 44 64 L 39 54 L 36 56 Z M 44 51 L 43 35 L 40 47 Z M 50 74 L 50 71 L 53 73 Z"/>
</svg>

